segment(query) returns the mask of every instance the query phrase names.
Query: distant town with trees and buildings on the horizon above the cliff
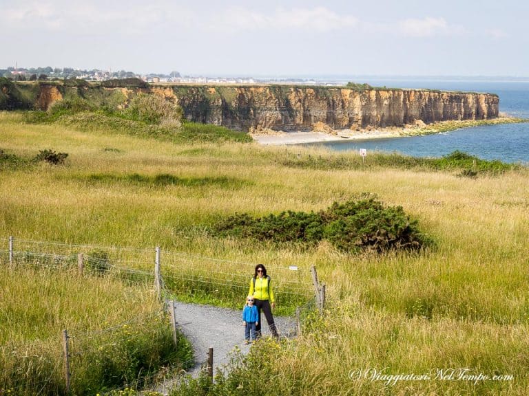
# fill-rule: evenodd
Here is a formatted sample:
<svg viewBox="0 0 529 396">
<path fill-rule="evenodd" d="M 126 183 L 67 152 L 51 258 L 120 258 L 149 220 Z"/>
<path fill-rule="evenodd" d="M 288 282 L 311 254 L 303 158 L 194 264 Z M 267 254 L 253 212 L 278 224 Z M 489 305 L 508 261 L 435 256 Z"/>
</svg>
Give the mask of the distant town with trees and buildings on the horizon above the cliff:
<svg viewBox="0 0 529 396">
<path fill-rule="evenodd" d="M 207 76 L 181 76 L 179 72 L 169 74 L 136 74 L 125 70 L 116 72 L 99 69 L 83 70 L 71 67 L 8 67 L 0 69 L 0 77 L 16 81 L 34 80 L 66 80 L 82 79 L 87 81 L 105 81 L 116 78 L 141 78 L 148 83 L 198 83 L 198 84 L 259 84 L 259 83 L 284 83 L 316 85 L 318 82 L 312 78 L 253 78 L 253 77 L 207 77 Z M 334 85 L 334 84 L 328 84 Z"/>
</svg>

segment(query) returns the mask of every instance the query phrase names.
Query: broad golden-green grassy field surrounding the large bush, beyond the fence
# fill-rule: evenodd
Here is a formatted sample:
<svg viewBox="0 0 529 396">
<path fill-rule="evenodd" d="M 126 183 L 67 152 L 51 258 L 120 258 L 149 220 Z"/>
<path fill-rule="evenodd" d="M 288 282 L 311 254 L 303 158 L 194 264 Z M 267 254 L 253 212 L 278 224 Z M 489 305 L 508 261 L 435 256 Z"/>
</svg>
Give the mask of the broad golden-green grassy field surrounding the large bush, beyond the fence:
<svg viewBox="0 0 529 396">
<path fill-rule="evenodd" d="M 257 395 L 253 384 L 264 376 L 273 378 L 271 395 L 526 395 L 526 168 L 476 177 L 400 160 L 362 168 L 344 165 L 360 163 L 352 153 L 81 132 L 13 113 L 0 113 L 0 148 L 21 158 L 45 148 L 69 154 L 64 166 L 3 166 L 0 236 L 318 267 L 326 314 L 307 318 L 294 342 L 262 342 L 216 394 Z M 311 165 L 314 158 L 327 165 Z M 160 183 L 160 175 L 172 178 Z M 435 248 L 350 255 L 324 241 L 305 248 L 211 234 L 234 212 L 316 211 L 362 192 L 402 206 Z M 461 377 L 461 369 L 490 379 Z M 373 370 L 431 377 L 393 383 Z"/>
</svg>

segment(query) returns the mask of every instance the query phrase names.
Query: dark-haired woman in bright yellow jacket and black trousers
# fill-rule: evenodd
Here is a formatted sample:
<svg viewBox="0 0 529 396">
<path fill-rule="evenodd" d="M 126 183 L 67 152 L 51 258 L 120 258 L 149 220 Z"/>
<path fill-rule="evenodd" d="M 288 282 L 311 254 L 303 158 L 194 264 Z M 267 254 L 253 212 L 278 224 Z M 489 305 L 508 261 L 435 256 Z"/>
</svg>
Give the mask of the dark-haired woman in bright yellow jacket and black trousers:
<svg viewBox="0 0 529 396">
<path fill-rule="evenodd" d="M 270 283 L 270 276 L 267 276 L 267 269 L 262 264 L 256 265 L 256 272 L 250 281 L 250 291 L 248 296 L 253 296 L 254 305 L 258 312 L 258 325 L 256 326 L 256 337 L 261 336 L 261 311 L 267 318 L 268 327 L 272 336 L 278 336 L 276 324 L 273 322 L 272 309 L 276 308 L 276 303 L 273 298 L 272 285 Z M 271 305 L 270 305 L 271 303 Z"/>
</svg>

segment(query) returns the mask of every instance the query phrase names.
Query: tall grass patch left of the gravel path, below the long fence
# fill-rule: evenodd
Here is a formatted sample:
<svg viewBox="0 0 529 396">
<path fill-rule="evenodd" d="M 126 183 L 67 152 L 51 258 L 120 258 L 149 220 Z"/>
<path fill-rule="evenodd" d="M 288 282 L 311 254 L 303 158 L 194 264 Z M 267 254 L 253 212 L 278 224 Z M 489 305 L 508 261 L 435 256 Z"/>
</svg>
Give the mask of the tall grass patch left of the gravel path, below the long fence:
<svg viewBox="0 0 529 396">
<path fill-rule="evenodd" d="M 63 329 L 70 335 L 71 389 L 76 395 L 141 384 L 160 367 L 191 358 L 187 341 L 180 338 L 174 345 L 169 320 L 151 287 L 81 277 L 75 270 L 37 261 L 15 268 L 1 261 L 2 394 L 66 393 Z"/>
</svg>

